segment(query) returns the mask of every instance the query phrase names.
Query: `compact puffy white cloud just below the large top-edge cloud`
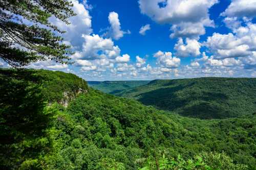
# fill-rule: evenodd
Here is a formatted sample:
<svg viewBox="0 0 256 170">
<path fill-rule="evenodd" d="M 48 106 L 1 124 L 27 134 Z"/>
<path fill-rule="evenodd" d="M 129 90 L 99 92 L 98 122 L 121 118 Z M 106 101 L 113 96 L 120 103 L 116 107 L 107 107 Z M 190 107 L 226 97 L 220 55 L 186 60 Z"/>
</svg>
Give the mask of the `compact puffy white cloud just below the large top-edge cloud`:
<svg viewBox="0 0 256 170">
<path fill-rule="evenodd" d="M 178 57 L 196 57 L 201 54 L 201 43 L 195 39 L 186 38 L 186 44 L 184 44 L 182 38 L 179 38 L 174 48 L 177 51 L 176 55 Z"/>
</svg>

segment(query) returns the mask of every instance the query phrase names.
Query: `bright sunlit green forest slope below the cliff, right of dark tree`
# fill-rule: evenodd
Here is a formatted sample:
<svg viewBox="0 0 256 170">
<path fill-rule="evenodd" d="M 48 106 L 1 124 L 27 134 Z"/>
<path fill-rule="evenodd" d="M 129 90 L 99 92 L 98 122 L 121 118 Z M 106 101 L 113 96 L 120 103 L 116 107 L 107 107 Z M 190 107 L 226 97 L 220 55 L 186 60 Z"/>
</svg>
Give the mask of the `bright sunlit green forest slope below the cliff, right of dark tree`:
<svg viewBox="0 0 256 170">
<path fill-rule="evenodd" d="M 208 157 L 218 164 L 218 156 L 200 153 L 224 151 L 236 164 L 255 167 L 255 116 L 186 118 L 94 90 L 79 95 L 60 115 L 53 125 L 61 133 L 53 140 L 58 150 L 46 160 L 49 169 L 142 168 L 145 160 L 154 158 L 152 148 L 166 150 L 168 158 L 182 155 L 185 161 L 178 162 L 179 166 L 193 167 L 198 161 L 194 156 L 198 155 L 214 168 L 208 163 L 214 161 Z"/>
</svg>

